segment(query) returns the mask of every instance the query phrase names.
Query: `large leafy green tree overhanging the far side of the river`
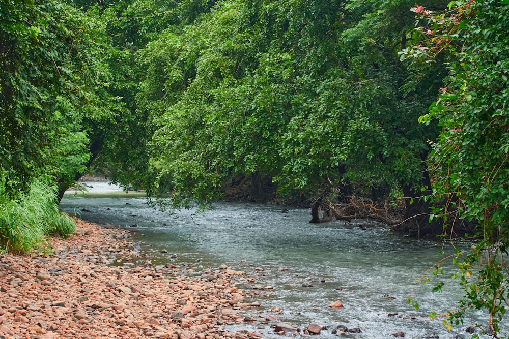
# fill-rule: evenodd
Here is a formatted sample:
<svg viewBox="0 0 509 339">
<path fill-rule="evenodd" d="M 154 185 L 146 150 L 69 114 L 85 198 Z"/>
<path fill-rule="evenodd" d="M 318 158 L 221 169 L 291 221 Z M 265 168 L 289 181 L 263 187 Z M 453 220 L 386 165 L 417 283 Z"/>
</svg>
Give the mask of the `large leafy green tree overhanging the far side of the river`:
<svg viewBox="0 0 509 339">
<path fill-rule="evenodd" d="M 397 54 L 409 4 L 229 1 L 167 30 L 140 54 L 159 189 L 189 203 L 239 174 L 276 180 L 280 195 L 401 185 L 407 216 L 421 213 L 412 198 L 431 188 L 423 160 L 438 131 L 417 117 L 444 73 L 400 90 L 414 74 Z"/>
</svg>

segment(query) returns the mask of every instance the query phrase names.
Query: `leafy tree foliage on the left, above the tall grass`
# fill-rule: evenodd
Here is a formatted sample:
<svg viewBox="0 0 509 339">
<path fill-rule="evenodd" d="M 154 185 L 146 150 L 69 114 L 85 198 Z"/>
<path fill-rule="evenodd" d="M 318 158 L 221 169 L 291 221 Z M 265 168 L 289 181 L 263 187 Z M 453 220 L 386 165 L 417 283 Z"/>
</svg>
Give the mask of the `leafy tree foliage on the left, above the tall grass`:
<svg viewBox="0 0 509 339">
<path fill-rule="evenodd" d="M 88 159 L 84 120 L 107 118 L 103 105 L 116 99 L 105 90 L 106 38 L 98 21 L 56 0 L 3 0 L 1 8 L 2 193 L 16 197 L 41 174 L 81 170 Z"/>
</svg>

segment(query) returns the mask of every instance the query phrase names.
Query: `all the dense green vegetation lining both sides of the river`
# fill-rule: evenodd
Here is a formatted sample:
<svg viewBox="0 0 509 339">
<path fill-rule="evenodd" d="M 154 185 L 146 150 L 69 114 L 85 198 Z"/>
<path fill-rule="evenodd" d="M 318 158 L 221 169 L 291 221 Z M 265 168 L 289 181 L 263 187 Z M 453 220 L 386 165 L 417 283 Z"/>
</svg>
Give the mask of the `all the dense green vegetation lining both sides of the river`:
<svg viewBox="0 0 509 339">
<path fill-rule="evenodd" d="M 470 222 L 449 320 L 485 309 L 500 333 L 507 3 L 0 0 L 0 241 L 72 232 L 55 199 L 87 171 L 161 207 L 281 199 L 416 236 Z"/>
</svg>

